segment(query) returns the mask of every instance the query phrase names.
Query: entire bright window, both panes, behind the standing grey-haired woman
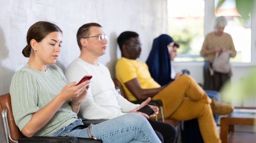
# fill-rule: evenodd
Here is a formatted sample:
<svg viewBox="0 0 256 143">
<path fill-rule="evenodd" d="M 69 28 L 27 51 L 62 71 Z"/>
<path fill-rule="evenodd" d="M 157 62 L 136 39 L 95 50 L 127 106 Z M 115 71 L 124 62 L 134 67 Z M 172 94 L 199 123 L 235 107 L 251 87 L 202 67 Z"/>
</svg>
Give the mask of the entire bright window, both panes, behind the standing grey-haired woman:
<svg viewBox="0 0 256 143">
<path fill-rule="evenodd" d="M 217 8 L 219 1 L 221 0 L 215 0 L 215 2 L 212 0 L 206 3 L 205 0 L 168 0 L 168 34 L 180 44 L 178 56 L 175 58 L 176 62 L 204 60 L 200 56 L 200 50 L 205 35 L 213 31 L 214 17 L 221 15 L 228 20 L 224 32 L 232 36 L 237 51 L 236 57 L 230 60 L 232 62 L 251 62 L 251 18 L 247 21 L 242 20 L 237 12 L 235 0 L 225 0 Z M 205 13 L 209 9 L 212 12 Z M 205 17 L 208 18 L 205 19 Z M 211 24 L 211 26 L 207 26 L 207 32 L 205 32 L 205 22 L 208 25 Z"/>
</svg>

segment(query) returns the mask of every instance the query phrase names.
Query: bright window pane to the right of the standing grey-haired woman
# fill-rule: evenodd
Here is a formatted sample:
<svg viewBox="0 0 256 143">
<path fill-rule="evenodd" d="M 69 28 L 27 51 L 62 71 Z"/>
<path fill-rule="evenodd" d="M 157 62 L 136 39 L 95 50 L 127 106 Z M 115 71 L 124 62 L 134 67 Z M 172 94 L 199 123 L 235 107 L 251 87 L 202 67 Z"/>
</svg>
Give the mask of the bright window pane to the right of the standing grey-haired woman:
<svg viewBox="0 0 256 143">
<path fill-rule="evenodd" d="M 230 58 L 233 62 L 251 62 L 251 18 L 242 20 L 236 9 L 236 0 L 225 0 L 217 9 L 220 0 L 215 0 L 215 16 L 225 16 L 228 25 L 224 32 L 231 35 L 236 48 L 236 57 Z"/>
</svg>

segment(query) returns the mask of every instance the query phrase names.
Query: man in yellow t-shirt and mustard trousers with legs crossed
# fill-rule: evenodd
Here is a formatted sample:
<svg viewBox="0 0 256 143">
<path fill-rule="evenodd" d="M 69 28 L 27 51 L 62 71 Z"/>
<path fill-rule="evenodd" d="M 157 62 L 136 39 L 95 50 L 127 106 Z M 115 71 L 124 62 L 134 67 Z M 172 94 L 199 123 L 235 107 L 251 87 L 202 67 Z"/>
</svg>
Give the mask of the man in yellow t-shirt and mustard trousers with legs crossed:
<svg viewBox="0 0 256 143">
<path fill-rule="evenodd" d="M 172 83 L 160 86 L 150 75 L 146 63 L 136 60 L 141 44 L 136 32 L 123 32 L 117 38 L 122 57 L 116 64 L 116 78 L 125 89 L 129 100 L 144 100 L 148 97 L 161 100 L 165 118 L 190 120 L 197 118 L 205 143 L 220 143 L 212 113 L 227 114 L 230 105 L 214 104 L 196 81 L 182 75 Z M 219 110 L 219 108 L 227 110 Z M 230 110 L 228 110 L 230 109 Z"/>
</svg>

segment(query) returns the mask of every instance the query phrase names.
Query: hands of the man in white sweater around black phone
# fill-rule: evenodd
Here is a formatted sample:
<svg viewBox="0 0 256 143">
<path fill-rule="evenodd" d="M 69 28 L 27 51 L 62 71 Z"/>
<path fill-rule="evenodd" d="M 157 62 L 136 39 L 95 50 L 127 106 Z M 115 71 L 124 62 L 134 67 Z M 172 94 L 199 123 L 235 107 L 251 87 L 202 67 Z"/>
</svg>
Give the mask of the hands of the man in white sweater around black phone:
<svg viewBox="0 0 256 143">
<path fill-rule="evenodd" d="M 148 104 L 148 102 L 150 102 L 151 98 L 149 97 L 148 99 L 146 99 L 144 102 L 142 102 L 139 107 L 129 111 L 128 113 L 138 113 L 138 114 L 141 114 L 142 116 L 146 117 L 147 119 L 149 119 L 150 117 L 154 117 L 156 116 L 156 114 L 159 113 L 159 108 L 156 107 L 156 106 L 153 106 L 153 105 L 149 105 L 153 110 L 154 110 L 154 114 L 151 114 L 150 116 L 148 116 L 147 114 L 145 113 L 142 113 L 142 112 L 139 112 L 138 110 L 142 107 L 144 107 L 145 105 Z"/>
</svg>

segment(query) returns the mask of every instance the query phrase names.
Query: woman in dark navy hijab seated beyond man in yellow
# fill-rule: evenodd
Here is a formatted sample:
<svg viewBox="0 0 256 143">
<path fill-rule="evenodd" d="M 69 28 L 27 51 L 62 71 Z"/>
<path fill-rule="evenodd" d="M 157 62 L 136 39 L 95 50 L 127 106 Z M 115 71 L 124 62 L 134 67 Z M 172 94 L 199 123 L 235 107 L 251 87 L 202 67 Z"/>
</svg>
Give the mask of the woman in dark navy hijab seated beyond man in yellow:
<svg viewBox="0 0 256 143">
<path fill-rule="evenodd" d="M 148 56 L 146 62 L 151 77 L 161 86 L 164 86 L 174 80 L 171 79 L 170 58 L 173 45 L 173 38 L 171 38 L 169 35 L 162 34 L 155 38 L 150 55 Z M 182 138 L 184 138 L 185 143 L 203 143 L 197 119 L 185 121 L 183 132 L 184 137 Z"/>
</svg>

